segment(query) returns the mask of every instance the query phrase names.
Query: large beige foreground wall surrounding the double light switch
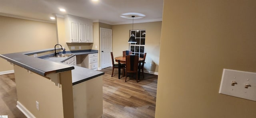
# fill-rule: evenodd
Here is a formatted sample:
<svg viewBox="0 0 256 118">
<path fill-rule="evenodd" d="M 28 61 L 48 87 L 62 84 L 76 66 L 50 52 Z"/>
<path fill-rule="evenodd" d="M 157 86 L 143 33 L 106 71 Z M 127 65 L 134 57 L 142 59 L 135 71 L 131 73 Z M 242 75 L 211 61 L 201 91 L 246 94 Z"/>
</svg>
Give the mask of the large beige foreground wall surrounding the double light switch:
<svg viewBox="0 0 256 118">
<path fill-rule="evenodd" d="M 256 118 L 219 94 L 222 70 L 256 72 L 254 0 L 165 0 L 156 118 Z"/>
</svg>

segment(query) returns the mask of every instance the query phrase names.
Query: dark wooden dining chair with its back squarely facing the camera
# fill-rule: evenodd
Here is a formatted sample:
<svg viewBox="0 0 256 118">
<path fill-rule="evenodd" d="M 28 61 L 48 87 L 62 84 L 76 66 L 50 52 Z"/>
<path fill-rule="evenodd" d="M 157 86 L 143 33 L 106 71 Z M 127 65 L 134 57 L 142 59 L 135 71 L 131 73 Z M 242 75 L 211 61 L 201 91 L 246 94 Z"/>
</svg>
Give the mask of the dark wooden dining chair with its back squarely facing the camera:
<svg viewBox="0 0 256 118">
<path fill-rule="evenodd" d="M 127 78 L 127 73 L 136 73 L 136 81 L 138 83 L 138 64 L 139 64 L 138 55 L 126 55 L 125 82 Z"/>
</svg>

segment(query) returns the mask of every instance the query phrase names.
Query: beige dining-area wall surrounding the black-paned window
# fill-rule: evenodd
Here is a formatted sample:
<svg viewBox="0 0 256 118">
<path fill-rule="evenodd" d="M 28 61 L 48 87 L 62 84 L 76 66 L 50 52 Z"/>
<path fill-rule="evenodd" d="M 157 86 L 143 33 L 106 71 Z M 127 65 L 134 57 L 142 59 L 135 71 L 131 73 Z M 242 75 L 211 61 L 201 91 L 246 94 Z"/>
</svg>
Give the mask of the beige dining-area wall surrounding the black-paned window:
<svg viewBox="0 0 256 118">
<path fill-rule="evenodd" d="M 160 37 L 162 22 L 148 22 L 134 24 L 134 30 L 146 30 L 145 53 L 146 63 L 144 70 L 158 72 L 159 55 L 160 55 Z M 122 56 L 122 51 L 129 50 L 128 40 L 130 38 L 129 31 L 132 30 L 132 24 L 114 25 L 112 27 L 112 51 L 113 56 Z M 152 66 L 150 67 L 150 63 Z"/>
</svg>

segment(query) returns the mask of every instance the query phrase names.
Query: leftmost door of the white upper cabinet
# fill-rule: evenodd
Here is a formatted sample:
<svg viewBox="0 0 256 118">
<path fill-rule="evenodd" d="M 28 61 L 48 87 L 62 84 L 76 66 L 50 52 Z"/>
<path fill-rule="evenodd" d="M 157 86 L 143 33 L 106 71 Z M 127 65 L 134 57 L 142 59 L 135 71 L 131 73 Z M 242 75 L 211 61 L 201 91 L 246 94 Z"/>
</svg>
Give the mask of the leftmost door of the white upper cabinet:
<svg viewBox="0 0 256 118">
<path fill-rule="evenodd" d="M 70 22 L 70 38 L 71 38 L 71 42 L 79 42 L 78 22 Z"/>
</svg>

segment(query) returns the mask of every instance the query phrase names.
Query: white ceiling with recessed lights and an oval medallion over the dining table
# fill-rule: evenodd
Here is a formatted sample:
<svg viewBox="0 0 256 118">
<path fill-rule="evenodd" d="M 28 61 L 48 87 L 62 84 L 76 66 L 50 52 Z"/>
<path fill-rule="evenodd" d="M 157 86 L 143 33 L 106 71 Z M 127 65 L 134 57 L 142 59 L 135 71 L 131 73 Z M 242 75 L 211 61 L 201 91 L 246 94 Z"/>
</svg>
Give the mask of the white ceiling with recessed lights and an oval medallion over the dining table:
<svg viewBox="0 0 256 118">
<path fill-rule="evenodd" d="M 146 15 L 144 18 L 134 19 L 134 23 L 162 21 L 163 2 L 164 0 L 0 0 L 0 15 L 10 14 L 55 22 L 50 19 L 52 14 L 71 14 L 111 25 L 131 24 L 131 19 L 121 18 L 120 15 L 128 12 Z M 59 8 L 66 9 L 66 12 L 61 12 Z"/>
</svg>

